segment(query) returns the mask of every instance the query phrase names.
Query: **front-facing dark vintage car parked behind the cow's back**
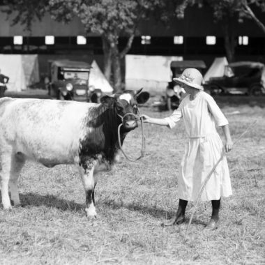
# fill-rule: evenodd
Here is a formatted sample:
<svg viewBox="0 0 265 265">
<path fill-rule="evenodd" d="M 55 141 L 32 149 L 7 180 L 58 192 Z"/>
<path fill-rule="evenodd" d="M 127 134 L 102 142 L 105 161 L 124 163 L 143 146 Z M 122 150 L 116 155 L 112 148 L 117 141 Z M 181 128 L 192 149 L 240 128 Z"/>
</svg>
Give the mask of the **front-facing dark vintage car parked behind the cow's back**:
<svg viewBox="0 0 265 265">
<path fill-rule="evenodd" d="M 48 93 L 59 100 L 99 102 L 100 89 L 89 86 L 91 66 L 82 61 L 49 61 L 50 78 L 46 80 Z"/>
</svg>

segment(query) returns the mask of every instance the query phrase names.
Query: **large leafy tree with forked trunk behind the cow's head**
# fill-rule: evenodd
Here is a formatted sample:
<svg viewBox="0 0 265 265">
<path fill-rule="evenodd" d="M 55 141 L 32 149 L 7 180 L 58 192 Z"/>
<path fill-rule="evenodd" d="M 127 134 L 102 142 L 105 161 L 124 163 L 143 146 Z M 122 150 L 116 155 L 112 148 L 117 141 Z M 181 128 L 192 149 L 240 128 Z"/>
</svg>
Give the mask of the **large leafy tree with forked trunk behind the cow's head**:
<svg viewBox="0 0 265 265">
<path fill-rule="evenodd" d="M 121 89 L 121 60 L 130 50 L 139 20 L 163 6 L 162 0 L 11 0 L 11 10 L 17 10 L 14 23 L 22 22 L 30 29 L 31 22 L 50 12 L 54 20 L 70 22 L 77 16 L 86 34 L 96 33 L 102 38 L 105 76 L 113 77 L 114 89 Z M 27 8 L 29 6 L 29 9 Z M 31 13 L 31 11 L 33 11 Z M 127 44 L 119 50 L 119 37 L 126 36 Z"/>
</svg>

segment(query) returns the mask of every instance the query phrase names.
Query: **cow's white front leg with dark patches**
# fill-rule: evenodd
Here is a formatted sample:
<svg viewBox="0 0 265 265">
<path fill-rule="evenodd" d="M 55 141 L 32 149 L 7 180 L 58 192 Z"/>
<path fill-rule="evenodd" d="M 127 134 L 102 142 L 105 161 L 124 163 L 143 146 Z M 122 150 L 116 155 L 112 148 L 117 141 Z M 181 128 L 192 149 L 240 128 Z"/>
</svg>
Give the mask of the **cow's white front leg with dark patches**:
<svg viewBox="0 0 265 265">
<path fill-rule="evenodd" d="M 86 215 L 88 218 L 96 218 L 96 208 L 94 205 L 94 188 L 95 181 L 93 178 L 93 171 L 96 165 L 96 161 L 88 161 L 85 165 L 79 167 L 79 172 L 81 174 L 82 182 L 84 185 L 84 191 L 86 194 Z"/>
</svg>

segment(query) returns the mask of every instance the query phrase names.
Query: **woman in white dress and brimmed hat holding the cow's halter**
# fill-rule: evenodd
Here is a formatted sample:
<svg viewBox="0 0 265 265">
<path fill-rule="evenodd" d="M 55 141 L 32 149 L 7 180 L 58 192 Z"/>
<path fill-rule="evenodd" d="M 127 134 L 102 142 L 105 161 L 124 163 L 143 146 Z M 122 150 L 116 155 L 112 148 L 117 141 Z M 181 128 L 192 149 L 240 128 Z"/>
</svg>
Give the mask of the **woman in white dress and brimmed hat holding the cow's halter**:
<svg viewBox="0 0 265 265">
<path fill-rule="evenodd" d="M 185 222 L 185 208 L 188 201 L 195 201 L 206 176 L 221 156 L 223 145 L 215 124 L 225 134 L 225 151 L 232 149 L 228 121 L 215 100 L 202 87 L 202 74 L 195 68 L 187 68 L 174 81 L 183 87 L 187 96 L 171 116 L 164 119 L 143 115 L 144 122 L 173 128 L 183 119 L 188 142 L 181 161 L 178 176 L 179 208 L 176 215 L 162 225 L 179 225 Z M 224 157 L 209 179 L 202 201 L 211 201 L 212 215 L 207 227 L 215 229 L 219 222 L 220 197 L 232 195 L 227 160 Z"/>
</svg>

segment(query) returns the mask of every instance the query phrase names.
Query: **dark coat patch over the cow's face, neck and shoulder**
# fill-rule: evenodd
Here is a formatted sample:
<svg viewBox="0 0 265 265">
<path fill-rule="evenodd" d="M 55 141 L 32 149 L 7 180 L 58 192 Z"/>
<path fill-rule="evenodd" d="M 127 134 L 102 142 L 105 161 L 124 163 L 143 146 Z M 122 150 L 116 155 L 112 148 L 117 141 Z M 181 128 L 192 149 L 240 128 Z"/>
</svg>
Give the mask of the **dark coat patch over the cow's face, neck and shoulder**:
<svg viewBox="0 0 265 265">
<path fill-rule="evenodd" d="M 122 123 L 121 117 L 124 117 L 123 126 L 121 126 L 122 144 L 127 132 L 137 127 L 135 114 L 138 114 L 137 103 L 141 101 L 141 91 L 142 89 L 137 92 L 126 90 L 116 93 L 114 96 L 103 96 L 100 105 L 89 109 L 84 121 L 86 136 L 80 140 L 79 148 L 79 165 L 82 165 L 84 169 L 87 168 L 86 161 L 91 158 L 112 167 L 119 149 L 118 128 Z M 123 93 L 130 93 L 132 96 L 130 103 L 127 100 L 119 99 Z M 144 100 L 146 98 L 145 96 Z M 135 121 L 135 123 L 131 123 L 131 121 Z"/>
</svg>

